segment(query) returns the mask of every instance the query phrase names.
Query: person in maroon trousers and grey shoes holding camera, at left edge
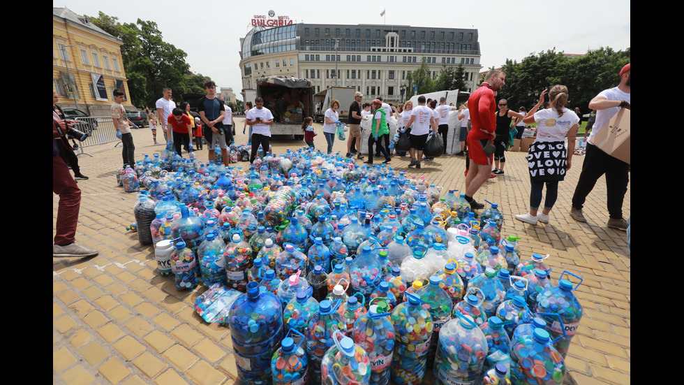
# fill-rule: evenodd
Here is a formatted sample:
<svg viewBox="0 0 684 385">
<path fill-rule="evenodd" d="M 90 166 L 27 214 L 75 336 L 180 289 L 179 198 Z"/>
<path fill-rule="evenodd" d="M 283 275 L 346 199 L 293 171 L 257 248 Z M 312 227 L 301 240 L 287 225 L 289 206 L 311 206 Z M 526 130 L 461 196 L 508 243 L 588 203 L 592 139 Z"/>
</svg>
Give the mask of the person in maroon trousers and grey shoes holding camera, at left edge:
<svg viewBox="0 0 684 385">
<path fill-rule="evenodd" d="M 59 144 L 66 143 L 73 130 L 72 123 L 52 112 L 52 192 L 59 195 L 57 222 L 54 226 L 52 256 L 96 256 L 97 250 L 78 245 L 75 242 L 78 210 L 81 205 L 81 190 L 71 177 L 64 159 L 59 155 Z M 73 133 L 71 133 L 73 135 Z"/>
</svg>

